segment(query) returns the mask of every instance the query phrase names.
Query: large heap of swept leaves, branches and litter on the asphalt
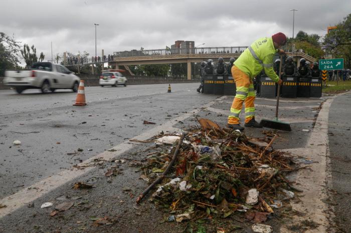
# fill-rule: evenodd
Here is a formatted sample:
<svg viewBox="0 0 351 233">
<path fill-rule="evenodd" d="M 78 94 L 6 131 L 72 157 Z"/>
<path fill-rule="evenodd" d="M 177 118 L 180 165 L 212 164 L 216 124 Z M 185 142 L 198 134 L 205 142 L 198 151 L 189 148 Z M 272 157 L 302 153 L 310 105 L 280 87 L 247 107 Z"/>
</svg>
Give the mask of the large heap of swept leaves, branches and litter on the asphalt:
<svg viewBox="0 0 351 233">
<path fill-rule="evenodd" d="M 160 134 L 156 143 L 173 144 L 151 154 L 143 177 L 154 182 L 150 199 L 169 209 L 169 221 L 215 217 L 235 211 L 264 222 L 294 192 L 284 173 L 298 169 L 290 155 L 272 148 L 273 137 L 248 138 L 239 130 L 221 128 L 200 119 L 201 128 L 180 134 Z M 155 184 L 161 183 L 158 187 Z"/>
</svg>

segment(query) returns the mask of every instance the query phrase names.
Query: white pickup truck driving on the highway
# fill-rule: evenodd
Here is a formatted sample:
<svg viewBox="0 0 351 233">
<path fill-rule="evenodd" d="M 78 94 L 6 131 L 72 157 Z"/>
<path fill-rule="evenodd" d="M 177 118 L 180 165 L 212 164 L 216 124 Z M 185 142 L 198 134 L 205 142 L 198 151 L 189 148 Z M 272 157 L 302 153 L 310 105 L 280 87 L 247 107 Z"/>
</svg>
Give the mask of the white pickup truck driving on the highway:
<svg viewBox="0 0 351 233">
<path fill-rule="evenodd" d="M 17 93 L 25 89 L 39 88 L 43 93 L 56 89 L 72 89 L 77 92 L 80 78 L 65 66 L 51 62 L 35 62 L 31 69 L 6 70 L 3 80 Z"/>
</svg>

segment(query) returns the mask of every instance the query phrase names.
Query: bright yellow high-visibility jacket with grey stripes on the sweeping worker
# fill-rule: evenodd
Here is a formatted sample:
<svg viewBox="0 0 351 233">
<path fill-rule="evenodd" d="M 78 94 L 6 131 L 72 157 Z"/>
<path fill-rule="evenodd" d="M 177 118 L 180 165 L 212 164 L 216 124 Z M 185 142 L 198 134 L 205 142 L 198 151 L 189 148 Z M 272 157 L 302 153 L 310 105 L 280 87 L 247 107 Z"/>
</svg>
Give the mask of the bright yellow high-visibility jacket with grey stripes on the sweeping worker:
<svg viewBox="0 0 351 233">
<path fill-rule="evenodd" d="M 273 81 L 279 76 L 273 70 L 273 57 L 278 49 L 274 48 L 272 37 L 262 37 L 254 41 L 234 62 L 241 71 L 254 78 L 264 68 L 264 72 Z"/>
</svg>

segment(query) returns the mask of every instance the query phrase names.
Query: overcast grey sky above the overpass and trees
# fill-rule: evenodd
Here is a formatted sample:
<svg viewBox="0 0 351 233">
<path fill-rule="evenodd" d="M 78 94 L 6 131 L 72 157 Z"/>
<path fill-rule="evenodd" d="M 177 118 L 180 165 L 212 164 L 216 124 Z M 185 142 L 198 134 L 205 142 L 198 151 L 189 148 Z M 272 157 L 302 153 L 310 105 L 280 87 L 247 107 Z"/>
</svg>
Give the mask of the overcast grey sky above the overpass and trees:
<svg viewBox="0 0 351 233">
<path fill-rule="evenodd" d="M 350 0 L 2 0 L 0 31 L 53 53 L 97 54 L 156 49 L 175 40 L 246 46 L 262 36 L 299 30 L 324 35 L 351 12 Z"/>
</svg>

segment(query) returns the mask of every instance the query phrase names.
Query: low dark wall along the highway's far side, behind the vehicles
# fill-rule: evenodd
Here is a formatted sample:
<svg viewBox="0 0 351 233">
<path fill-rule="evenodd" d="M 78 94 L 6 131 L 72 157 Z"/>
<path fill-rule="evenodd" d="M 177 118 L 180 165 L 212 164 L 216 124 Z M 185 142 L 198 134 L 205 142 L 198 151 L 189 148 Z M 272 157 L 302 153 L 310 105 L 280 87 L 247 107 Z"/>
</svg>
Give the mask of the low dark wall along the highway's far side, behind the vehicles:
<svg viewBox="0 0 351 233">
<path fill-rule="evenodd" d="M 99 76 L 97 74 L 77 74 L 84 80 L 85 86 L 98 86 Z M 182 83 L 182 82 L 200 82 L 200 79 L 188 80 L 187 78 L 175 77 L 154 77 L 154 76 L 127 76 L 128 85 L 136 84 L 158 84 L 158 83 Z M 0 77 L 0 89 L 10 89 L 9 86 L 3 84 L 3 77 Z"/>
</svg>

